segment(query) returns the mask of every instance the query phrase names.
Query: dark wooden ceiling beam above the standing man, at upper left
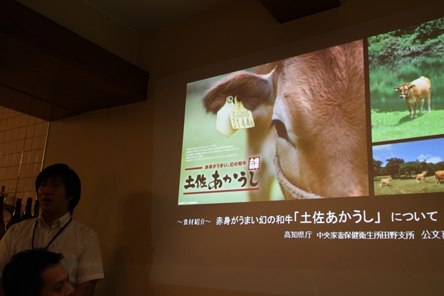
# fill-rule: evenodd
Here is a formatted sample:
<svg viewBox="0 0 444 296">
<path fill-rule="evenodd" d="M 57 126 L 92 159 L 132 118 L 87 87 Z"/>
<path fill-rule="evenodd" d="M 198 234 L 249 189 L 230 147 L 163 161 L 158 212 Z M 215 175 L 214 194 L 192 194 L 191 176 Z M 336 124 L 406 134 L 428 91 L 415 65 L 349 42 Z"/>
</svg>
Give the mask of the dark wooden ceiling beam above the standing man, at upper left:
<svg viewBox="0 0 444 296">
<path fill-rule="evenodd" d="M 146 101 L 149 74 L 15 0 L 0 0 L 0 104 L 46 121 Z"/>
</svg>

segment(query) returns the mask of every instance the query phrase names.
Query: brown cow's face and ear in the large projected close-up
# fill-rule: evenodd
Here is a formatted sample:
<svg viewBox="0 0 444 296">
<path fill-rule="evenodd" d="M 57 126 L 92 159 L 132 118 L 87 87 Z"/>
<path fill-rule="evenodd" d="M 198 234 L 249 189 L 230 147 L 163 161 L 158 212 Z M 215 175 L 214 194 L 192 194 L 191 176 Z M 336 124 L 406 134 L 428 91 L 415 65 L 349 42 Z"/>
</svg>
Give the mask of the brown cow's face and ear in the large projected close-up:
<svg viewBox="0 0 444 296">
<path fill-rule="evenodd" d="M 256 121 L 273 107 L 275 175 L 285 198 L 368 195 L 362 42 L 275 65 L 265 75 L 239 71 L 223 78 L 203 98 L 205 109 L 216 114 L 227 96 L 238 96 Z M 338 177 L 343 172 L 353 182 Z"/>
</svg>

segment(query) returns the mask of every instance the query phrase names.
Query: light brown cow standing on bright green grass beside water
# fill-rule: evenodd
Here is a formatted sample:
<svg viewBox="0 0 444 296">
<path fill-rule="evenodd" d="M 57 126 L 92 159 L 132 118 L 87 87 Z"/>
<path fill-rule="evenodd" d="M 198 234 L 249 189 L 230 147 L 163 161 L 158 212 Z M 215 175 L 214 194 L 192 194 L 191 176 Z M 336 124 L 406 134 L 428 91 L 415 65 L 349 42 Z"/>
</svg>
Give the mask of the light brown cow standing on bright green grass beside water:
<svg viewBox="0 0 444 296">
<path fill-rule="evenodd" d="M 396 91 L 400 91 L 400 98 L 404 98 L 410 110 L 410 118 L 416 117 L 416 107 L 421 102 L 420 112 L 424 106 L 424 100 L 427 98 L 430 113 L 430 96 L 432 95 L 430 80 L 427 77 L 421 76 L 410 83 L 402 83 L 395 87 Z"/>
</svg>

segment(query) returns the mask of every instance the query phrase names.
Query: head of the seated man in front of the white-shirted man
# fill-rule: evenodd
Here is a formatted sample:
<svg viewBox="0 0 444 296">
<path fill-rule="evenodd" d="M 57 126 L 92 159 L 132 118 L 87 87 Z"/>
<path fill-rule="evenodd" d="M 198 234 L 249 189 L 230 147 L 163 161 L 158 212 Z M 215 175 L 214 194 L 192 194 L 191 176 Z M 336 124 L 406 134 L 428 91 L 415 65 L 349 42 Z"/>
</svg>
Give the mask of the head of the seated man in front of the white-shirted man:
<svg viewBox="0 0 444 296">
<path fill-rule="evenodd" d="M 69 296 L 69 275 L 61 260 L 62 254 L 34 249 L 11 257 L 3 269 L 5 296 Z"/>
</svg>

